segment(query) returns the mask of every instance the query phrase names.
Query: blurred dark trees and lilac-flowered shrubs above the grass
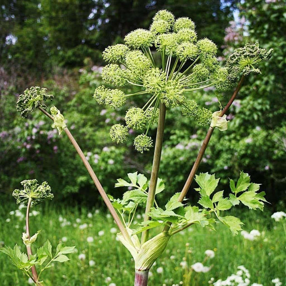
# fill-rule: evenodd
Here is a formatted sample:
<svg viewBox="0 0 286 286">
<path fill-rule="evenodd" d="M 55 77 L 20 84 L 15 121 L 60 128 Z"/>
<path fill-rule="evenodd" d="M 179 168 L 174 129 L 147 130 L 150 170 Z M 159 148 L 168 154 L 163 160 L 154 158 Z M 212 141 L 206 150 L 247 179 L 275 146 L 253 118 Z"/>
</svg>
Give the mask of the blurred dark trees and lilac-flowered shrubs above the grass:
<svg viewBox="0 0 286 286">
<path fill-rule="evenodd" d="M 228 178 L 238 178 L 243 170 L 262 184 L 271 210 L 285 209 L 284 0 L 1 0 L 1 197 L 10 200 L 21 180 L 37 178 L 48 181 L 58 203 L 102 205 L 65 134 L 58 136 L 38 111 L 25 120 L 16 113 L 17 96 L 32 85 L 46 87 L 55 96 L 53 104 L 109 193 L 121 197 L 114 183 L 128 172 L 149 176 L 153 150 L 142 155 L 131 140 L 117 146 L 109 138 L 109 128 L 123 122 L 128 106 L 110 110 L 98 106 L 92 96 L 102 84 L 104 48 L 123 43 L 127 32 L 148 29 L 159 9 L 191 17 L 198 38 L 208 37 L 218 45 L 222 62 L 245 43 L 259 41 L 261 48 L 274 48 L 270 61 L 260 65 L 262 74 L 245 81 L 229 111 L 228 130 L 214 132 L 199 171 L 216 173 L 227 191 Z M 192 96 L 201 106 L 218 110 L 213 91 Z M 222 104 L 230 96 L 225 94 Z M 140 106 L 140 98 L 129 104 Z M 207 127 L 182 117 L 179 109 L 167 112 L 159 177 L 168 194 L 181 190 L 206 132 Z M 155 137 L 155 130 L 151 133 Z M 197 202 L 196 192 L 190 191 L 189 197 Z"/>
</svg>

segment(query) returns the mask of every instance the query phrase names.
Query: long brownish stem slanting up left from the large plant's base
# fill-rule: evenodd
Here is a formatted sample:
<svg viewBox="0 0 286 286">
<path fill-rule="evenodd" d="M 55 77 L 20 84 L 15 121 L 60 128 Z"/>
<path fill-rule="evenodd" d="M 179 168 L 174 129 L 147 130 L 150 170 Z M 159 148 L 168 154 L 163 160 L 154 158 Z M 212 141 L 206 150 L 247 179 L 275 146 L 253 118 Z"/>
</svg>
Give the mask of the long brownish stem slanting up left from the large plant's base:
<svg viewBox="0 0 286 286">
<path fill-rule="evenodd" d="M 47 115 L 50 119 L 53 120 L 53 117 L 45 110 L 43 110 L 42 108 L 38 108 L 40 111 L 42 111 L 45 115 Z M 115 221 L 115 223 L 117 224 L 119 230 L 121 231 L 122 235 L 124 236 L 124 238 L 129 241 L 129 243 L 131 245 L 133 245 L 133 242 L 130 238 L 130 236 L 127 233 L 127 230 L 124 226 L 124 224 L 122 223 L 122 221 L 120 220 L 116 210 L 114 209 L 114 207 L 111 204 L 111 201 L 109 200 L 106 192 L 104 191 L 103 187 L 101 186 L 97 176 L 95 175 L 94 170 L 92 169 L 91 165 L 89 164 L 88 160 L 85 158 L 82 150 L 79 147 L 79 144 L 76 142 L 76 140 L 74 139 L 74 137 L 72 136 L 72 134 L 70 133 L 69 129 L 67 127 L 64 128 L 64 131 L 67 135 L 67 137 L 69 138 L 70 142 L 74 145 L 75 149 L 77 150 L 80 159 L 82 160 L 84 166 L 86 167 L 89 175 L 91 176 L 92 180 L 95 183 L 95 186 L 97 188 L 97 190 L 99 191 L 104 203 L 106 204 L 106 206 L 108 207 L 109 211 L 111 212 L 111 215 Z"/>
</svg>

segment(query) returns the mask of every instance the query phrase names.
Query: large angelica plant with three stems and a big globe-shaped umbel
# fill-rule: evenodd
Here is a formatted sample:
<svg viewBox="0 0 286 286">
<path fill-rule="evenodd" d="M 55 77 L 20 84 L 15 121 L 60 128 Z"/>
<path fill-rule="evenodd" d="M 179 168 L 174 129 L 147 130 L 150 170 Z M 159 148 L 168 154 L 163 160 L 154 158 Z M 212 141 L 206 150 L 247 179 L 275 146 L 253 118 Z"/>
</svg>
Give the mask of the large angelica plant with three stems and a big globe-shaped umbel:
<svg viewBox="0 0 286 286">
<path fill-rule="evenodd" d="M 217 191 L 220 179 L 214 174 L 196 173 L 214 129 L 227 129 L 225 113 L 238 95 L 245 76 L 259 73 L 257 64 L 270 58 L 271 50 L 259 48 L 258 43 L 247 44 L 236 49 L 222 67 L 216 57 L 216 45 L 207 38 L 197 39 L 193 21 L 188 17 L 175 19 L 167 10 L 161 10 L 154 16 L 149 30 L 130 32 L 124 41 L 125 44 L 110 46 L 103 52 L 103 59 L 108 64 L 102 70 L 102 79 L 107 86 L 98 86 L 94 98 L 98 104 L 116 109 L 124 106 L 129 98 L 143 97 L 142 106 L 132 106 L 126 111 L 125 125 L 115 124 L 110 128 L 110 137 L 116 143 L 124 143 L 128 140 L 128 130 L 132 128 L 139 132 L 134 138 L 137 151 L 143 153 L 153 150 L 153 145 L 155 147 L 150 179 L 135 172 L 127 174 L 129 181 L 117 180 L 115 187 L 131 188 L 122 199 L 106 194 L 61 112 L 54 106 L 50 109 L 51 114 L 46 111 L 42 101 L 51 99 L 51 95 L 32 87 L 19 96 L 17 109 L 25 117 L 37 108 L 53 121 L 52 127 L 57 128 L 59 134 L 62 131 L 66 133 L 120 230 L 117 234 L 119 240 L 133 256 L 134 285 L 146 286 L 151 266 L 173 235 L 193 224 L 215 229 L 217 222 L 222 222 L 236 235 L 243 222 L 237 217 L 224 215 L 224 211 L 239 204 L 250 209 L 263 209 L 265 193 L 258 192 L 259 184 L 251 183 L 247 173 L 241 172 L 236 183 L 230 180 L 229 195 Z M 159 57 L 154 57 L 154 53 L 159 53 Z M 158 58 L 159 61 L 155 60 Z M 126 94 L 123 87 L 127 85 L 141 90 Z M 220 110 L 215 112 L 200 107 L 191 97 L 192 92 L 200 89 L 213 87 L 220 94 L 235 86 L 225 107 L 221 105 Z M 42 91 L 41 96 L 35 96 L 39 91 Z M 180 107 L 183 116 L 209 128 L 183 189 L 176 192 L 165 206 L 161 206 L 156 195 L 164 191 L 164 183 L 158 175 L 165 117 L 166 112 L 174 107 Z M 151 125 L 156 124 L 154 144 L 149 130 Z M 193 179 L 199 185 L 195 189 L 200 194 L 199 206 L 191 206 L 185 201 Z M 145 211 L 144 221 L 134 226 L 132 222 L 140 208 Z M 151 228 L 159 228 L 160 231 L 149 238 Z"/>
</svg>

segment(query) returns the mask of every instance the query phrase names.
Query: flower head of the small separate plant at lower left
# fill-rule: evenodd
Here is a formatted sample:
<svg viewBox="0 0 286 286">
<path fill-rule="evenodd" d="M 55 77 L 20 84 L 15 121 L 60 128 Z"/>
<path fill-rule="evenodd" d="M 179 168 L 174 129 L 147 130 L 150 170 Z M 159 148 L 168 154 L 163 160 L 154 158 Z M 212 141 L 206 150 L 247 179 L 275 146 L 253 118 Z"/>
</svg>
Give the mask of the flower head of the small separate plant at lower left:
<svg viewBox="0 0 286 286">
<path fill-rule="evenodd" d="M 42 185 L 38 184 L 36 179 L 24 180 L 21 182 L 24 190 L 14 190 L 13 197 L 17 200 L 17 204 L 28 204 L 29 200 L 35 205 L 45 199 L 51 200 L 54 195 L 51 193 L 51 188 L 47 182 L 43 182 Z"/>
</svg>

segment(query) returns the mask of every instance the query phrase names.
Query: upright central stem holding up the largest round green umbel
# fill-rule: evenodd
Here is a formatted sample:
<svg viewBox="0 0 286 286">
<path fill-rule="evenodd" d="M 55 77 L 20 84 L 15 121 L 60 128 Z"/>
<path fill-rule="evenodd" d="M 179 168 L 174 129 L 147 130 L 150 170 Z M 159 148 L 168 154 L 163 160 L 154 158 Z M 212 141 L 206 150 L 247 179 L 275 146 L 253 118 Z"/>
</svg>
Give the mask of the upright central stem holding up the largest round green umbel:
<svg viewBox="0 0 286 286">
<path fill-rule="evenodd" d="M 156 143 L 155 143 L 155 150 L 154 150 L 154 158 L 153 158 L 153 165 L 152 165 L 152 171 L 151 171 L 150 186 L 149 186 L 148 197 L 147 197 L 147 204 L 146 204 L 146 209 L 145 209 L 145 217 L 144 217 L 145 222 L 150 219 L 149 212 L 150 212 L 151 207 L 153 207 L 154 205 L 156 185 L 157 185 L 157 180 L 158 180 L 160 159 L 161 159 L 161 153 L 162 153 L 165 117 L 166 117 L 166 106 L 163 103 L 160 103 L 159 121 L 158 121 L 157 136 L 156 136 Z M 141 245 L 148 240 L 148 235 L 149 235 L 149 230 L 143 231 L 142 238 L 141 238 Z"/>
</svg>

